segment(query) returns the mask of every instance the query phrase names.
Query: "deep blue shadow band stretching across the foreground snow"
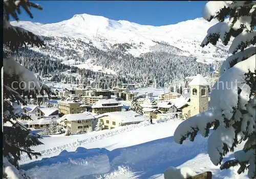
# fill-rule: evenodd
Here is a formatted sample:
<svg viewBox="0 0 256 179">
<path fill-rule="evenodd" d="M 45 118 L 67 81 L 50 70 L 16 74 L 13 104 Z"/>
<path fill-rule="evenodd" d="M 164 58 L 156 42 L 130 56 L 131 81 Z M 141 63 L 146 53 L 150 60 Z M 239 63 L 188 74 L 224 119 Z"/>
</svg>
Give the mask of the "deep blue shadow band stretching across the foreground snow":
<svg viewBox="0 0 256 179">
<path fill-rule="evenodd" d="M 124 139 L 125 140 L 125 139 Z M 76 153 L 76 154 L 74 154 Z M 158 139 L 134 146 L 117 148 L 109 151 L 105 148 L 86 149 L 78 147 L 74 152 L 63 150 L 52 158 L 44 158 L 41 161 L 31 162 L 21 166 L 28 170 L 34 167 L 52 166 L 59 163 L 67 163 L 72 160 L 87 160 L 99 155 L 107 155 L 105 163 L 101 167 L 108 168 L 101 173 L 89 172 L 84 169 L 79 173 L 79 178 L 94 178 L 96 175 L 115 173 L 120 167 L 133 173 L 133 178 L 155 178 L 162 174 L 170 166 L 178 167 L 183 163 L 194 159 L 198 154 L 207 154 L 207 138 L 198 135 L 194 142 L 184 141 L 182 145 L 174 142 L 174 137 Z M 58 170 L 63 170 L 61 167 Z M 97 168 L 93 169 L 97 170 Z M 71 170 L 72 172 L 72 170 Z"/>
</svg>

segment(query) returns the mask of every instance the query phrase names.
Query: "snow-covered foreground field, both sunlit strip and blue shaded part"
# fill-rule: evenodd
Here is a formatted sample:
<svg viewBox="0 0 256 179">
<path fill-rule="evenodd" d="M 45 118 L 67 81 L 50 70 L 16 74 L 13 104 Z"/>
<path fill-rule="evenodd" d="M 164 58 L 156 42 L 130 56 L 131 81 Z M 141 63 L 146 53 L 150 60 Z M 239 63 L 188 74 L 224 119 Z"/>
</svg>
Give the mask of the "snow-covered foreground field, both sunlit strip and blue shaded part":
<svg viewBox="0 0 256 179">
<path fill-rule="evenodd" d="M 214 166 L 207 154 L 207 139 L 200 135 L 194 142 L 176 144 L 173 135 L 181 122 L 169 120 L 69 137 L 45 137 L 45 145 L 33 149 L 70 145 L 62 147 L 61 152 L 52 150 L 43 155 L 44 159 L 20 164 L 32 178 L 163 178 L 169 166 L 190 167 L 197 173 L 212 171 L 213 178 L 246 178 L 245 174 L 237 175 L 237 168 L 220 171 Z"/>
</svg>

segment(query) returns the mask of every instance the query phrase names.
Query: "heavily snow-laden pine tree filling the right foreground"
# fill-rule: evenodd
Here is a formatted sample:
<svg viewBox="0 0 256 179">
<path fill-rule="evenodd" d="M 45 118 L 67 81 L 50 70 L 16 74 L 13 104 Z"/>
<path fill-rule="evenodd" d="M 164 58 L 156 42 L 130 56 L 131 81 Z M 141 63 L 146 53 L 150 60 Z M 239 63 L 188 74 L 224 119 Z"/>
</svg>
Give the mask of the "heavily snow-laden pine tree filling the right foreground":
<svg viewBox="0 0 256 179">
<path fill-rule="evenodd" d="M 198 132 L 208 137 L 208 154 L 212 163 L 221 164 L 223 157 L 243 141 L 243 150 L 233 153 L 234 159 L 223 163 L 220 169 L 239 166 L 238 173 L 247 170 L 255 178 L 255 24 L 256 2 L 208 2 L 204 19 L 217 18 L 220 22 L 207 31 L 201 46 L 216 44 L 220 38 L 229 57 L 223 62 L 219 80 L 211 91 L 209 109 L 182 122 L 174 133 L 175 142 L 182 144 L 186 138 L 194 141 Z M 225 19 L 229 16 L 229 20 Z"/>
</svg>

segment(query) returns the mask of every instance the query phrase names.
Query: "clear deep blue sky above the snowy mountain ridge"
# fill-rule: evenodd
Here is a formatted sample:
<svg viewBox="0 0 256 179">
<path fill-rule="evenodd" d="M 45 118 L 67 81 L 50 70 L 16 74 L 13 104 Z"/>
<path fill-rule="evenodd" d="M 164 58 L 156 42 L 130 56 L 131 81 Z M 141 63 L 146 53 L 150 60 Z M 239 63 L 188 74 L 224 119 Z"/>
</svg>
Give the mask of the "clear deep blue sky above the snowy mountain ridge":
<svg viewBox="0 0 256 179">
<path fill-rule="evenodd" d="M 141 25 L 163 26 L 202 17 L 206 1 L 31 1 L 43 10 L 32 9 L 31 19 L 23 10 L 20 20 L 57 23 L 75 14 L 101 15 Z"/>
</svg>

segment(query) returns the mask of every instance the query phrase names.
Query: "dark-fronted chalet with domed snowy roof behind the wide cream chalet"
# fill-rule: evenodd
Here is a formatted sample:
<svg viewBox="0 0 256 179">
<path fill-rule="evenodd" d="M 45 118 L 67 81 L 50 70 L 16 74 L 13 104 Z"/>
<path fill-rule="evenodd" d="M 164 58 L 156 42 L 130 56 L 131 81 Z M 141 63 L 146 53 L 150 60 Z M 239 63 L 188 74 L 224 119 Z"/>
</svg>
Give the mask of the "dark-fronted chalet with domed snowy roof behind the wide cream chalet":
<svg viewBox="0 0 256 179">
<path fill-rule="evenodd" d="M 103 114 L 122 110 L 122 104 L 115 99 L 102 99 L 92 105 L 92 112 Z"/>
</svg>

